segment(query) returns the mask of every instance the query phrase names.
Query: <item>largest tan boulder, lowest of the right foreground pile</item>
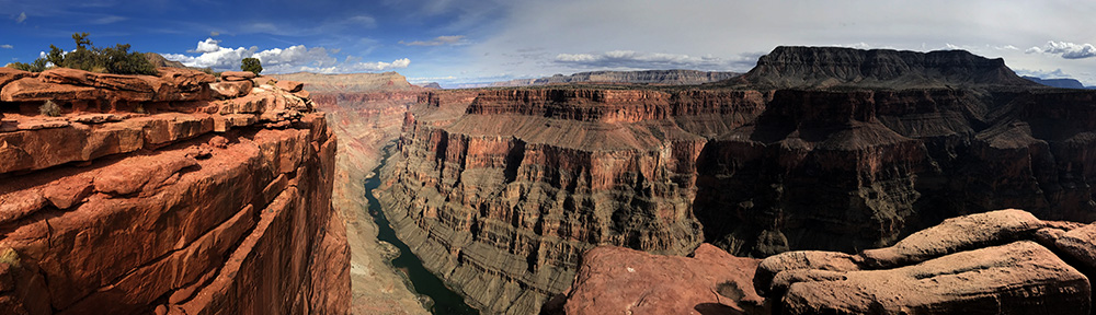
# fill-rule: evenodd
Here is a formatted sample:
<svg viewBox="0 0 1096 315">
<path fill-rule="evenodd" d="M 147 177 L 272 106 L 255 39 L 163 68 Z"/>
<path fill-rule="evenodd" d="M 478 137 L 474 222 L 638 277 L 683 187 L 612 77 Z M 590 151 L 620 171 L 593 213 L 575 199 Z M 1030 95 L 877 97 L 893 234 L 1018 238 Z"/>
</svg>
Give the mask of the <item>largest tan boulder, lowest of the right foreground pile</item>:
<svg viewBox="0 0 1096 315">
<path fill-rule="evenodd" d="M 796 277 L 779 313 L 1088 314 L 1091 307 L 1087 278 L 1030 241 L 842 273 Z"/>
</svg>

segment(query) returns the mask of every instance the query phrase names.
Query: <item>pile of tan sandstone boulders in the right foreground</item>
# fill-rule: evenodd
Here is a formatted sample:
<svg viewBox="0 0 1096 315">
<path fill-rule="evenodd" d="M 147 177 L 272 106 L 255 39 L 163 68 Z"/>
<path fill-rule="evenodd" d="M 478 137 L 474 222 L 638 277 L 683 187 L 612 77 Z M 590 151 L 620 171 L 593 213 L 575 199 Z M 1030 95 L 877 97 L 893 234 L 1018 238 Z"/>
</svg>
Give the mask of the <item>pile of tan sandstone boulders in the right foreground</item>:
<svg viewBox="0 0 1096 315">
<path fill-rule="evenodd" d="M 757 269 L 775 276 L 754 284 L 780 314 L 1088 314 L 1092 288 L 1078 271 L 1086 269 L 1032 242 L 1037 230 L 1057 228 L 1020 210 L 971 214 L 864 250 L 854 268 L 789 265 L 803 254 L 776 255 Z"/>
</svg>

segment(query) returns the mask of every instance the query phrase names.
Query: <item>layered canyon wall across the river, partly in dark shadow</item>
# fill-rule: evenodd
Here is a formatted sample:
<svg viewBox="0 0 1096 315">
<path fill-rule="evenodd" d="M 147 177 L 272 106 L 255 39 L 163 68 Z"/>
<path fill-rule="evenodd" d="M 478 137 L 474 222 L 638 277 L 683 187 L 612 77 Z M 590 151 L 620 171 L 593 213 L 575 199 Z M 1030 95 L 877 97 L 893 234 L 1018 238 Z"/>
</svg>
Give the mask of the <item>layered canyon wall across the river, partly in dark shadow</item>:
<svg viewBox="0 0 1096 315">
<path fill-rule="evenodd" d="M 1092 92 L 1028 89 L 962 51 L 778 48 L 743 80 L 420 102 L 381 199 L 429 268 L 513 313 L 595 245 L 767 256 L 1008 207 L 1096 220 Z"/>
</svg>

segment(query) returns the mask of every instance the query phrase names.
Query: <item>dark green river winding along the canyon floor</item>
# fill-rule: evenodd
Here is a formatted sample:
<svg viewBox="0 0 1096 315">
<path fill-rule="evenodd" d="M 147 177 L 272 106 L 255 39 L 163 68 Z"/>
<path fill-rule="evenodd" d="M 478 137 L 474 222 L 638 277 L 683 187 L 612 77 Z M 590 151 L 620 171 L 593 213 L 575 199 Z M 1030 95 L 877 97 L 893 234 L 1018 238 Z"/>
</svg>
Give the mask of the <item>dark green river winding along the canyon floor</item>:
<svg viewBox="0 0 1096 315">
<path fill-rule="evenodd" d="M 383 152 L 387 151 L 386 148 Z M 434 276 L 430 270 L 426 270 L 422 266 L 422 261 L 419 260 L 419 257 L 411 252 L 411 247 L 408 247 L 400 238 L 396 237 L 396 231 L 388 223 L 385 212 L 380 210 L 380 202 L 373 196 L 373 189 L 380 186 L 380 168 L 385 166 L 387 158 L 386 154 L 380 165 L 373 170 L 374 175 L 365 180 L 365 199 L 369 200 L 369 215 L 373 217 L 373 221 L 377 223 L 377 228 L 380 230 L 377 238 L 391 243 L 400 249 L 400 256 L 392 259 L 392 267 L 404 272 L 407 278 L 411 280 L 412 291 L 430 296 L 434 301 L 429 310 L 431 313 L 447 315 L 479 314 L 479 312 L 465 303 L 464 296 L 445 287 L 442 279 Z"/>
</svg>

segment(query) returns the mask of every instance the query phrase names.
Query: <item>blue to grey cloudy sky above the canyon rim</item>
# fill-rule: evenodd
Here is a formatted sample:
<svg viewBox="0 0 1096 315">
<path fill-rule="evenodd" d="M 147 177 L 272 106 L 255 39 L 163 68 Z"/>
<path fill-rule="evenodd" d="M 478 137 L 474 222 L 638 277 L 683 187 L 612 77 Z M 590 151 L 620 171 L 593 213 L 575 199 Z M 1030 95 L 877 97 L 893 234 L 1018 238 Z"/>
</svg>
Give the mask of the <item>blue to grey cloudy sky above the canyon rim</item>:
<svg viewBox="0 0 1096 315">
<path fill-rule="evenodd" d="M 397 71 L 412 83 L 594 70 L 750 70 L 777 46 L 1005 58 L 1096 85 L 1096 1 L 0 0 L 0 63 L 50 44 L 130 44 L 187 66 L 263 73 Z"/>
</svg>

